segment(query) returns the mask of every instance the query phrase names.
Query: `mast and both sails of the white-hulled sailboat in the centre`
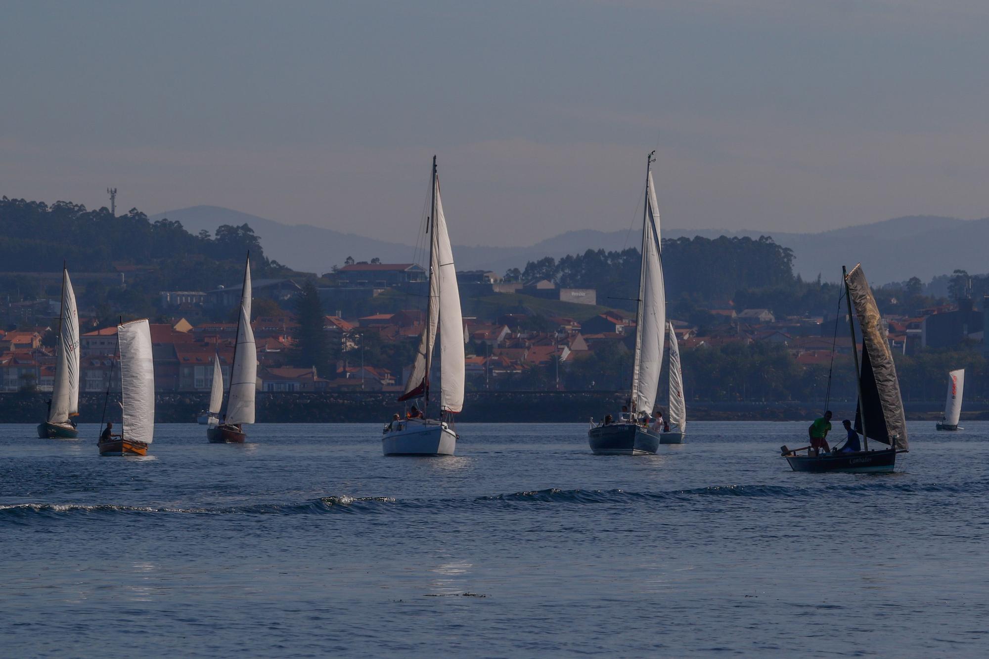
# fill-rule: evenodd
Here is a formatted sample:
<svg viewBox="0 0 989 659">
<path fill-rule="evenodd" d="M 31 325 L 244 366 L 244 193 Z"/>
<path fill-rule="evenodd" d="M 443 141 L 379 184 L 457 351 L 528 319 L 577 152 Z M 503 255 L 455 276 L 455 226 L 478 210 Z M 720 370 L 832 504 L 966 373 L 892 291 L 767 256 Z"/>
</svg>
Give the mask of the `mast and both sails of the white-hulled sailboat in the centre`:
<svg viewBox="0 0 989 659">
<path fill-rule="evenodd" d="M 417 398 L 428 391 L 433 348 L 439 335 L 440 408 L 447 412 L 460 412 L 464 407 L 464 321 L 460 310 L 457 269 L 453 262 L 435 166 L 434 159 L 426 327 L 419 336 L 412 371 L 405 383 L 405 393 L 399 400 Z"/>
</svg>

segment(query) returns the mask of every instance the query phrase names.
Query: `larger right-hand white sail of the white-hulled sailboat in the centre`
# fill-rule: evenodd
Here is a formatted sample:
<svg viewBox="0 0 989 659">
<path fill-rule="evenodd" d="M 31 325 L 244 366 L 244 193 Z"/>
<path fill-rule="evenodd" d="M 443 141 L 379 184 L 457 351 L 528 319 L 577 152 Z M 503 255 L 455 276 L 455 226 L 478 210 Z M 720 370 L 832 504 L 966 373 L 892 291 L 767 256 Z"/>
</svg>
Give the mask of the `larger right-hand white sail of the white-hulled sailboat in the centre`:
<svg viewBox="0 0 989 659">
<path fill-rule="evenodd" d="M 435 269 L 439 282 L 440 409 L 460 412 L 464 407 L 464 319 L 460 311 L 460 288 L 453 249 L 446 231 L 446 218 L 439 198 L 439 177 L 435 182 L 436 232 Z"/>
</svg>

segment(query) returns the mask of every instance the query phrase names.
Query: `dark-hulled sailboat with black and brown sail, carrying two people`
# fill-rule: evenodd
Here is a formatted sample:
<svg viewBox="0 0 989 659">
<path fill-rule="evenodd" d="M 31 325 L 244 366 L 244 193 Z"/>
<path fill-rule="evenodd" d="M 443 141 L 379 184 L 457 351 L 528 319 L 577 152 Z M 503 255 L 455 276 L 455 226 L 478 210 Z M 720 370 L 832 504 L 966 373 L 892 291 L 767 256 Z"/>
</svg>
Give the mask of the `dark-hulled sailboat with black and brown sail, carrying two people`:
<svg viewBox="0 0 989 659">
<path fill-rule="evenodd" d="M 903 399 L 900 396 L 900 382 L 896 377 L 893 354 L 889 350 L 886 333 L 880 325 L 879 309 L 876 307 L 872 291 L 865 281 L 861 264 L 851 272 L 842 268 L 845 280 L 845 295 L 849 307 L 849 329 L 852 345 L 855 345 L 854 314 L 862 332 L 862 351 L 859 366 L 858 353 L 853 349 L 855 380 L 858 392 L 858 407 L 855 410 L 854 429 L 862 436 L 861 451 L 833 451 L 819 453 L 807 447 L 806 455 L 798 455 L 798 448 L 790 450 L 783 446 L 783 457 L 793 471 L 844 472 L 844 473 L 891 473 L 896 467 L 896 454 L 909 450 L 907 420 L 903 413 Z M 869 450 L 868 440 L 873 439 L 889 448 Z"/>
</svg>

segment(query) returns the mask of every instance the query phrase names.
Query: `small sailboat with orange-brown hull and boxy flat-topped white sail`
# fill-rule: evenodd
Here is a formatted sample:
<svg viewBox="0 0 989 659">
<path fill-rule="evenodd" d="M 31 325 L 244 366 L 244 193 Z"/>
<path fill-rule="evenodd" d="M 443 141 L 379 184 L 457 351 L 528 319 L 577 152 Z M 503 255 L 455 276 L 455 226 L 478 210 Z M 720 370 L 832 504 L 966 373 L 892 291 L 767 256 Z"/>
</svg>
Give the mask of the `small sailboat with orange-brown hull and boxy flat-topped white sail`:
<svg viewBox="0 0 989 659">
<path fill-rule="evenodd" d="M 154 439 L 154 357 L 147 319 L 118 325 L 117 345 L 121 363 L 121 434 L 101 438 L 100 455 L 146 455 L 147 445 Z M 106 418 L 106 404 L 103 409 Z"/>
</svg>

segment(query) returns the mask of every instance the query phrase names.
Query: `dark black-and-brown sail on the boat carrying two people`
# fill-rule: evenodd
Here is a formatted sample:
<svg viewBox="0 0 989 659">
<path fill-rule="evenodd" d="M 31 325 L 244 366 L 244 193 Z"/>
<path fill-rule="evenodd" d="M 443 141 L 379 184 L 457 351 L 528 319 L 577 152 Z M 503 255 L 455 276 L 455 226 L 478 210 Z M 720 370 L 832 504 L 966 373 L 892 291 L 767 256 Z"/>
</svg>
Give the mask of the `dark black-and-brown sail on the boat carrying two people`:
<svg viewBox="0 0 989 659">
<path fill-rule="evenodd" d="M 869 439 L 907 450 L 907 420 L 893 354 L 882 329 L 879 308 L 860 264 L 852 268 L 845 281 L 862 332 L 861 372 L 858 375 L 861 400 L 855 411 L 855 429 Z"/>
</svg>

